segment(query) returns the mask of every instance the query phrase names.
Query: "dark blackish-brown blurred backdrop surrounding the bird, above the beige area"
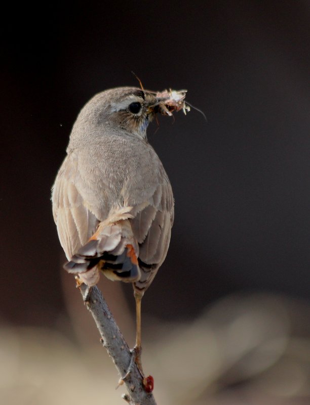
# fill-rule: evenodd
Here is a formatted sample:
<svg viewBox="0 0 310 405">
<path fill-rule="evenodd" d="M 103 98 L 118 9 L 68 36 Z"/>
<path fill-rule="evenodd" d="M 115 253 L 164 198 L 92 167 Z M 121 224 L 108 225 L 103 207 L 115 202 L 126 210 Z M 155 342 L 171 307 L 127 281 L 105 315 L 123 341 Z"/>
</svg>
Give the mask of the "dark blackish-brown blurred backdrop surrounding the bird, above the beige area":
<svg viewBox="0 0 310 405">
<path fill-rule="evenodd" d="M 134 71 L 154 91 L 187 88 L 207 116 L 178 113 L 148 129 L 173 186 L 175 223 L 143 298 L 143 325 L 190 322 L 227 296 L 267 293 L 294 303 L 284 318 L 297 319 L 297 335 L 308 339 L 310 3 L 12 3 L 3 20 L 1 325 L 69 335 L 78 313 L 83 329 L 80 314 L 89 316 L 61 268 L 50 189 L 80 109 L 106 88 L 138 86 Z M 101 283 L 107 295 L 117 291 L 107 301 L 117 319 L 130 314 L 133 330 L 131 287 Z M 267 314 L 282 301 L 275 302 Z M 225 322 L 225 312 L 215 318 Z M 237 331 L 249 331 L 242 325 Z"/>
</svg>

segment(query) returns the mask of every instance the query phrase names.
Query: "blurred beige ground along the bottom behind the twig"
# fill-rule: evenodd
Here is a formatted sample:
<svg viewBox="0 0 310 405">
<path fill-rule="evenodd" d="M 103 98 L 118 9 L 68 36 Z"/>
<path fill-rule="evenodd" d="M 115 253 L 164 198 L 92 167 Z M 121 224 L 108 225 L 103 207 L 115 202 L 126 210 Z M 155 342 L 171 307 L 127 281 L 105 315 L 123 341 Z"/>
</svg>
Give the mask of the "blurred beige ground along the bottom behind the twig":
<svg viewBox="0 0 310 405">
<path fill-rule="evenodd" d="M 120 308 L 114 308 L 118 318 Z M 84 319 L 87 310 L 79 310 L 53 329 L 1 328 L 3 403 L 122 403 L 124 388 L 115 391 L 112 361 L 90 316 Z M 143 367 L 154 377 L 157 403 L 308 404 L 309 316 L 304 302 L 239 294 L 213 303 L 191 322 L 148 317 Z M 134 334 L 123 323 L 126 334 Z"/>
</svg>

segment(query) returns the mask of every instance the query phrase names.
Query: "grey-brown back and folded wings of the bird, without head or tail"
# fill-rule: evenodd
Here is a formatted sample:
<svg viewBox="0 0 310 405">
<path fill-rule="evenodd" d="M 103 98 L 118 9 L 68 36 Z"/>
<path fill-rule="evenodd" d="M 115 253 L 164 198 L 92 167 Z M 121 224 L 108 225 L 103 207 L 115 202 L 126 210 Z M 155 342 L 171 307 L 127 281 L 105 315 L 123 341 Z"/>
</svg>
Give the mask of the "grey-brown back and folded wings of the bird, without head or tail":
<svg viewBox="0 0 310 405">
<path fill-rule="evenodd" d="M 53 190 L 53 210 L 68 259 L 113 212 L 132 207 L 129 222 L 139 246 L 141 278 L 148 287 L 164 261 L 173 222 L 168 176 L 153 148 L 129 133 L 109 131 L 68 148 Z"/>
</svg>

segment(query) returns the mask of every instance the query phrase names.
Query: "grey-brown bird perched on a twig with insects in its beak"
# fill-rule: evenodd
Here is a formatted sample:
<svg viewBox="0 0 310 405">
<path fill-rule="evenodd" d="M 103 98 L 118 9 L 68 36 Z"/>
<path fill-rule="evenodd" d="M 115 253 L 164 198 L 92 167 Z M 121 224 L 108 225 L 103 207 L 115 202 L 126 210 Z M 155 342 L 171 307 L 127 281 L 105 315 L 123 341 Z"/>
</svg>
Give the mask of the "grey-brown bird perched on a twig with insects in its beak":
<svg viewBox="0 0 310 405">
<path fill-rule="evenodd" d="M 64 268 L 90 287 L 100 271 L 133 284 L 141 372 L 141 298 L 167 255 L 174 215 L 171 185 L 146 128 L 156 113 L 189 110 L 185 93 L 120 87 L 94 96 L 73 125 L 52 189 Z"/>
</svg>

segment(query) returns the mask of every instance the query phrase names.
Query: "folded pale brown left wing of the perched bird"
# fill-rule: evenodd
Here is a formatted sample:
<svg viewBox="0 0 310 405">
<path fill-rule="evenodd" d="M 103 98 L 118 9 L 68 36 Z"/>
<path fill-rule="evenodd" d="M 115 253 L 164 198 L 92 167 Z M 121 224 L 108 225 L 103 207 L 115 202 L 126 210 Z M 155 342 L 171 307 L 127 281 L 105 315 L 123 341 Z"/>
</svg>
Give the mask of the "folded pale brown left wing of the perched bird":
<svg viewBox="0 0 310 405">
<path fill-rule="evenodd" d="M 75 187 L 76 175 L 77 161 L 73 155 L 68 155 L 52 189 L 54 220 L 60 244 L 68 259 L 88 241 L 99 222 L 84 205 L 84 199 Z"/>
</svg>

